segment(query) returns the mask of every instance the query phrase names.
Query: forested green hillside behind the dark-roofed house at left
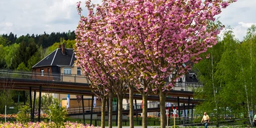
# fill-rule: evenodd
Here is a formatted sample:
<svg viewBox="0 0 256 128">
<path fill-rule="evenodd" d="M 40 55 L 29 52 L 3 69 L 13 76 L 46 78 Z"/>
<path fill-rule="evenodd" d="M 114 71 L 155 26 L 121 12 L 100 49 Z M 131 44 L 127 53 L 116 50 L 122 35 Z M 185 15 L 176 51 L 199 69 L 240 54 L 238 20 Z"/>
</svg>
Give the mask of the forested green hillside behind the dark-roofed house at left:
<svg viewBox="0 0 256 128">
<path fill-rule="evenodd" d="M 32 70 L 32 66 L 65 43 L 73 48 L 75 33 L 52 32 L 17 37 L 14 33 L 0 35 L 0 69 Z"/>
</svg>

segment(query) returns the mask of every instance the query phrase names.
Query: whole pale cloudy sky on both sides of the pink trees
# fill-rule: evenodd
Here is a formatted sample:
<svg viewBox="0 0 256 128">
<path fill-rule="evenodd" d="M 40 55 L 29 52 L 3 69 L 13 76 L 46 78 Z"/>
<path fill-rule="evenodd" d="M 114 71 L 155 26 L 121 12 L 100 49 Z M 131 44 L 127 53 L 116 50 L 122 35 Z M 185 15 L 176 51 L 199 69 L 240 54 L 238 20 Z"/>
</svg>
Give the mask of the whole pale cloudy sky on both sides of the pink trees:
<svg viewBox="0 0 256 128">
<path fill-rule="evenodd" d="M 100 3 L 100 0 L 92 0 Z M 1 0 L 0 34 L 10 32 L 20 35 L 75 30 L 79 22 L 76 0 Z M 83 0 L 82 3 L 85 1 Z M 87 11 L 82 4 L 83 15 Z M 256 25 L 256 0 L 238 0 L 218 15 L 223 25 L 233 28 L 240 41 L 247 29 Z"/>
</svg>

